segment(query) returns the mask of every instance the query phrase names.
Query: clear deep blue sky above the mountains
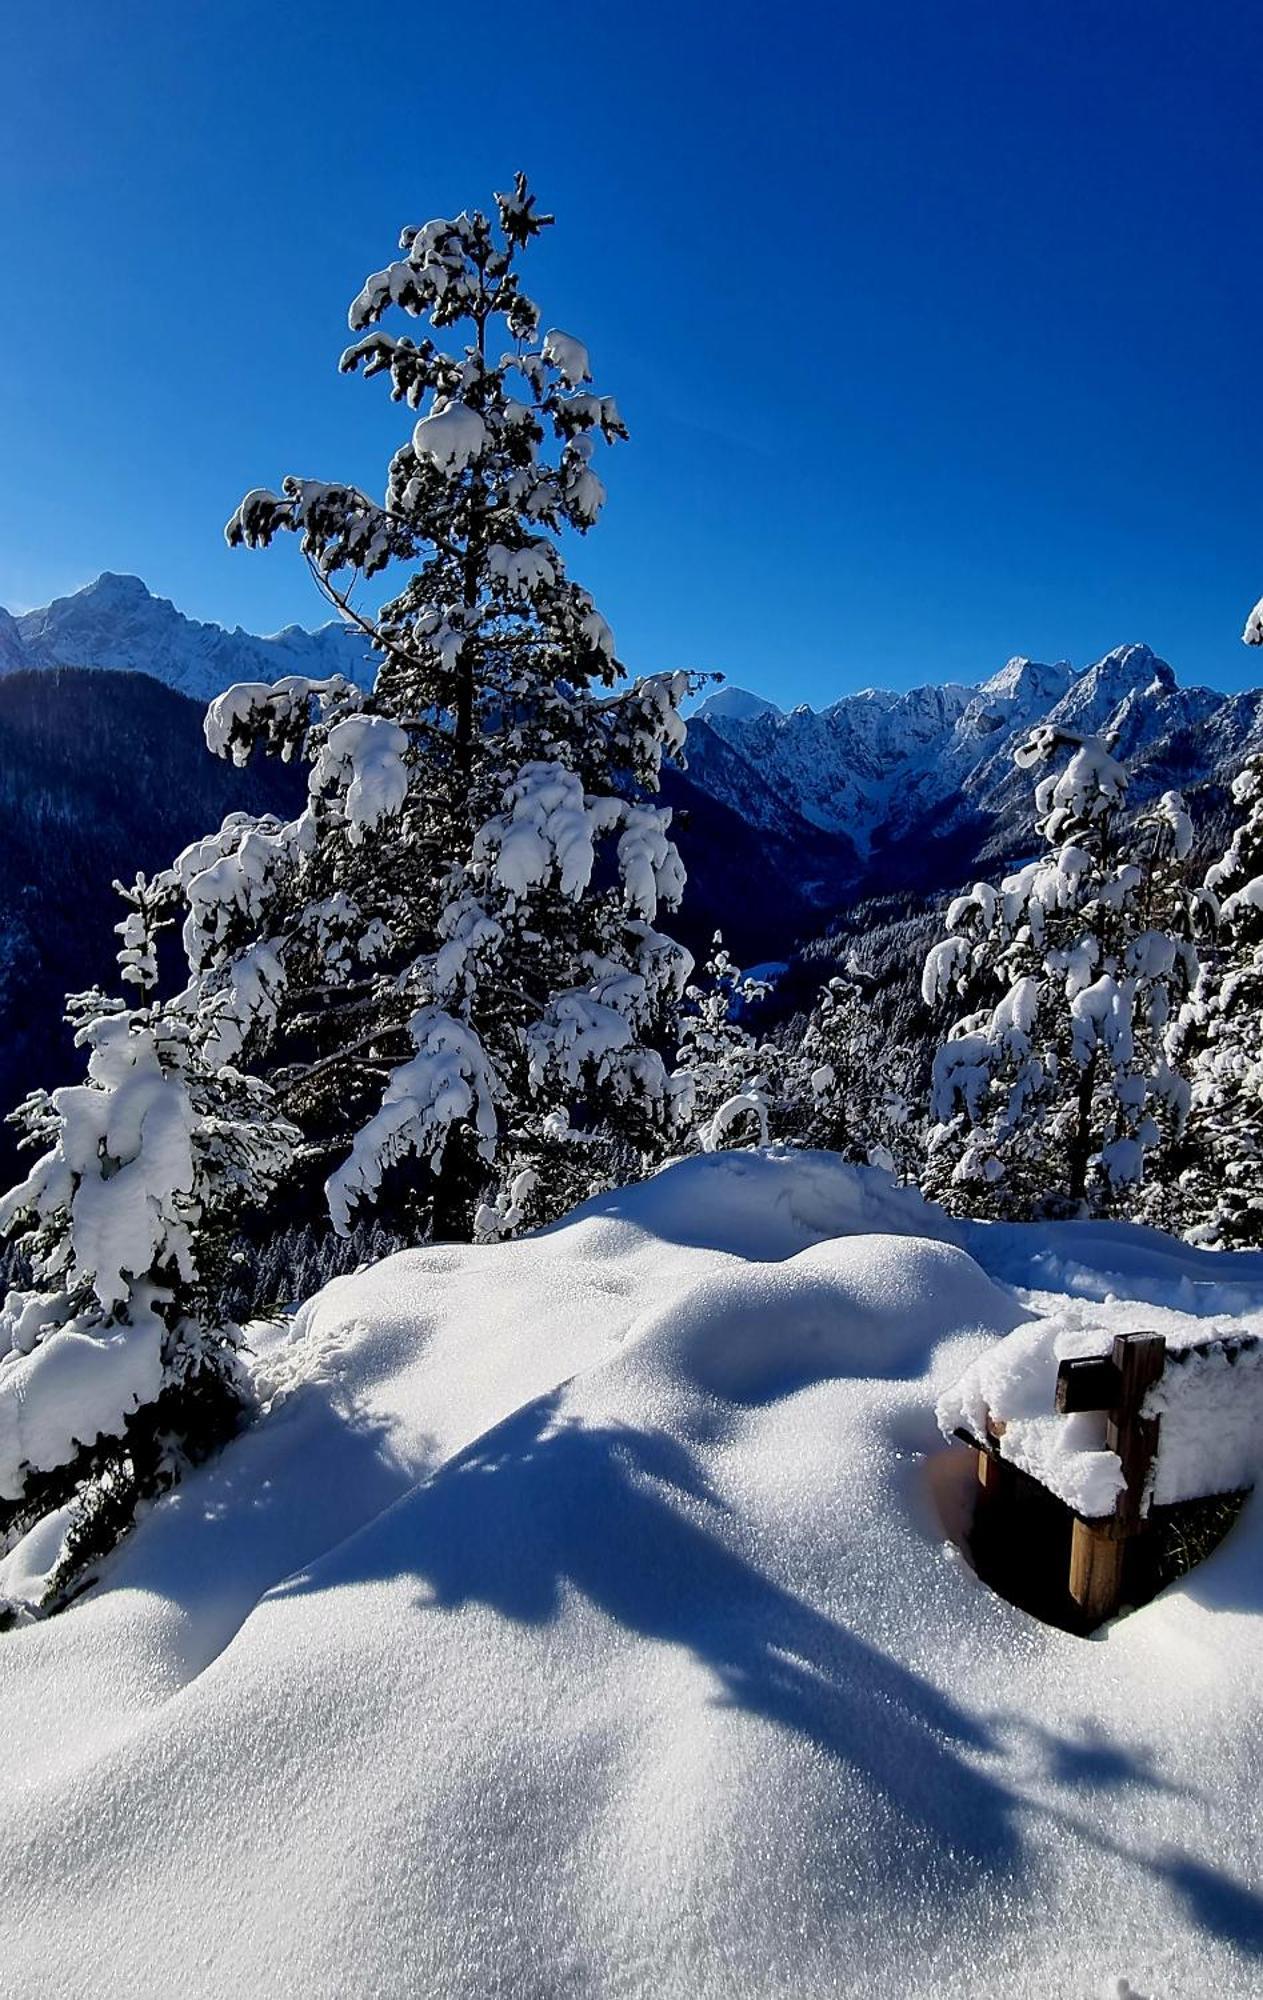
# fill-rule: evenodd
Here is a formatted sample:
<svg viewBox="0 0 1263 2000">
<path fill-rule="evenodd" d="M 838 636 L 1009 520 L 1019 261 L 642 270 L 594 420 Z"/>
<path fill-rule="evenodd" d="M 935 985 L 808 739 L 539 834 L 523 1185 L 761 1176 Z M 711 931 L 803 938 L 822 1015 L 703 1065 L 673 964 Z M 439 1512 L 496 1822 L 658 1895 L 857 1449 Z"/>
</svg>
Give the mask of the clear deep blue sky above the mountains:
<svg viewBox="0 0 1263 2000">
<path fill-rule="evenodd" d="M 633 432 L 576 562 L 630 666 L 823 702 L 1143 638 L 1251 680 L 1257 0 L 44 0 L 0 74 L 0 604 L 112 568 L 316 622 L 224 518 L 380 488 L 346 306 L 524 164 L 532 290 Z"/>
</svg>

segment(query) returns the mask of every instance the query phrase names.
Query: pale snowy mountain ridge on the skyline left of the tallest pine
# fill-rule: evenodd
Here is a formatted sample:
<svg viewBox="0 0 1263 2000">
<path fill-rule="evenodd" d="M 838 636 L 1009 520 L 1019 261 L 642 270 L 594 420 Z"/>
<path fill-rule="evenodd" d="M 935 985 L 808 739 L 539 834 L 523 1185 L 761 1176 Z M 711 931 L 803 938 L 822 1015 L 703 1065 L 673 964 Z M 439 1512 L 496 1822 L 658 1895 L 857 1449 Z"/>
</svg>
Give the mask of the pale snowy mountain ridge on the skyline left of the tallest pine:
<svg viewBox="0 0 1263 2000">
<path fill-rule="evenodd" d="M 338 622 L 316 632 L 286 626 L 260 638 L 186 618 L 138 576 L 106 572 L 84 590 L 12 618 L 0 610 L 0 674 L 24 666 L 100 666 L 150 674 L 178 694 L 208 702 L 234 680 L 346 674 L 368 682 L 368 646 Z"/>
</svg>

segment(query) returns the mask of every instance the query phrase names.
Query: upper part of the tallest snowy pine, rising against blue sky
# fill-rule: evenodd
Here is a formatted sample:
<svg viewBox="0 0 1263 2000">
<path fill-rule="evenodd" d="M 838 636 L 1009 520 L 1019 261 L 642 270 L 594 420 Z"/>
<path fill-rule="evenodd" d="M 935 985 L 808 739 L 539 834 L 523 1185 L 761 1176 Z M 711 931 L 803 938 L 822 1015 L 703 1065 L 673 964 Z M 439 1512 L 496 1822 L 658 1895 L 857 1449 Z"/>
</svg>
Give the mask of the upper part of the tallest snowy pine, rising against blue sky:
<svg viewBox="0 0 1263 2000">
<path fill-rule="evenodd" d="M 334 586 L 340 572 L 374 576 L 394 560 L 424 560 L 424 588 L 410 588 L 386 618 L 406 654 L 420 648 L 442 660 L 472 630 L 548 600 L 570 672 L 612 680 L 610 628 L 592 598 L 566 584 L 546 530 L 594 524 L 606 498 L 594 442 L 628 432 L 614 398 L 588 386 L 584 342 L 560 328 L 540 338 L 540 310 L 522 290 L 516 256 L 552 216 L 536 214 L 524 176 L 496 200 L 500 230 L 482 210 L 406 228 L 404 256 L 374 272 L 352 302 L 360 338 L 342 368 L 388 374 L 394 400 L 418 412 L 392 458 L 384 500 L 286 478 L 280 492 L 246 494 L 226 534 L 250 548 L 282 530 L 298 534 L 344 610 L 346 594 Z M 384 332 L 380 322 L 396 308 L 436 332 L 464 320 L 472 336 L 448 352 L 430 338 Z M 478 592 L 468 574 L 472 546 L 494 556 Z"/>
</svg>

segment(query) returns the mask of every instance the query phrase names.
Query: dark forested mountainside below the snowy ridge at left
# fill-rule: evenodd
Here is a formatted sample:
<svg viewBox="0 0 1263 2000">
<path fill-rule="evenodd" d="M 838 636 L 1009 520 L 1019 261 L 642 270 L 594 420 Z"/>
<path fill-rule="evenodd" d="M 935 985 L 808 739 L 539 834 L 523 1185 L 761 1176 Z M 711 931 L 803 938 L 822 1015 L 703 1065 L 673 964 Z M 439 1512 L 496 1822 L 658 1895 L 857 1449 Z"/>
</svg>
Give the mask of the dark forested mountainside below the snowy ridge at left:
<svg viewBox="0 0 1263 2000">
<path fill-rule="evenodd" d="M 112 880 L 154 870 L 226 812 L 290 812 L 288 766 L 208 756 L 202 706 L 146 674 L 0 676 L 0 1106 L 78 1078 L 66 992 L 116 984 Z M 0 1126 L 0 1182 L 14 1142 Z"/>
</svg>

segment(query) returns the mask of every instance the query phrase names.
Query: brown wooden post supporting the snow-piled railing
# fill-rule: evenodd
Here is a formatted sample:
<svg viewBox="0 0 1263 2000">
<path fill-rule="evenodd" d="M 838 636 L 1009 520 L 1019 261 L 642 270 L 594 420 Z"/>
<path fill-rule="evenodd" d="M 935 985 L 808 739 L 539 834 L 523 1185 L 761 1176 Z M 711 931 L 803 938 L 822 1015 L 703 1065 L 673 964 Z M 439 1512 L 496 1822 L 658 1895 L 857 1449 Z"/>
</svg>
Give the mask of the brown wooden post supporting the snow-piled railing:
<svg viewBox="0 0 1263 2000">
<path fill-rule="evenodd" d="M 1071 1534 L 1069 1594 L 1093 1624 L 1117 1612 L 1127 1542 L 1143 1526 L 1161 1418 L 1141 1412 L 1165 1364 L 1161 1334 L 1115 1334 L 1109 1356 L 1067 1360 L 1057 1370 L 1057 1412 L 1105 1410 L 1105 1444 L 1123 1468 L 1113 1514 L 1103 1520 L 1077 1514 Z"/>
</svg>

